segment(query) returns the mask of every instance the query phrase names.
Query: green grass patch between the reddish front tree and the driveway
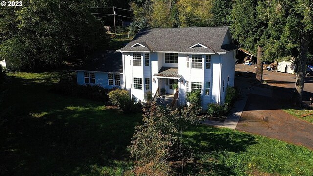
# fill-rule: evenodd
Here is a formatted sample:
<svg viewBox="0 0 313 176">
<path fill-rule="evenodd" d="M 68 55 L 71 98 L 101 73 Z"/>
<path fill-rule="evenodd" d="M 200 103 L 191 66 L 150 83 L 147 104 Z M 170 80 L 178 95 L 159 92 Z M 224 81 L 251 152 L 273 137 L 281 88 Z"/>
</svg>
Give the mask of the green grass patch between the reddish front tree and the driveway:
<svg viewBox="0 0 313 176">
<path fill-rule="evenodd" d="M 224 128 L 193 127 L 183 133 L 189 175 L 311 176 L 313 151 Z"/>
</svg>

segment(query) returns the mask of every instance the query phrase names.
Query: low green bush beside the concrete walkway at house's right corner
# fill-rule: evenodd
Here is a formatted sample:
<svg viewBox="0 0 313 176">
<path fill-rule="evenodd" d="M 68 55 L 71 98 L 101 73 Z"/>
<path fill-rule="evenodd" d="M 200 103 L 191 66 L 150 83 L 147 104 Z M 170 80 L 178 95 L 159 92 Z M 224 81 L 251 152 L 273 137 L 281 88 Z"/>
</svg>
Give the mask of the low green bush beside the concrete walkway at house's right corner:
<svg viewBox="0 0 313 176">
<path fill-rule="evenodd" d="M 209 103 L 207 113 L 211 117 L 221 118 L 222 116 L 226 116 L 229 110 L 230 108 L 228 103 L 224 103 L 222 105 L 218 103 Z"/>
</svg>

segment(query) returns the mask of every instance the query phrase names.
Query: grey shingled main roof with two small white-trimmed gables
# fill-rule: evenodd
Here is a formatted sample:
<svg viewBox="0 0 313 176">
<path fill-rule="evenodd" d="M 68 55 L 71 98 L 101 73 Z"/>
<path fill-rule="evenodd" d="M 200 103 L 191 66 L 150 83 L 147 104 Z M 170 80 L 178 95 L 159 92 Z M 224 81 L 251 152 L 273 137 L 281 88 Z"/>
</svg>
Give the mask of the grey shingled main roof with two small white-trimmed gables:
<svg viewBox="0 0 313 176">
<path fill-rule="evenodd" d="M 134 39 L 118 51 L 163 51 L 186 53 L 227 52 L 236 46 L 222 46 L 228 27 L 154 28 L 141 30 Z M 140 43 L 146 47 L 132 45 Z M 208 48 L 194 47 L 202 44 Z"/>
</svg>

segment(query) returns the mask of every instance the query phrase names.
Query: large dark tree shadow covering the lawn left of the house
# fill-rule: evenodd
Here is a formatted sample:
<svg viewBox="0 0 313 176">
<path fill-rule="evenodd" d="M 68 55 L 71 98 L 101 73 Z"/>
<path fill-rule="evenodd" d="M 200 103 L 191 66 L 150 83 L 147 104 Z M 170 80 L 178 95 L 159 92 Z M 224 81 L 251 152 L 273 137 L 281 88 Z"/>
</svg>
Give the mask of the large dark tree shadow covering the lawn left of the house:
<svg viewBox="0 0 313 176">
<path fill-rule="evenodd" d="M 141 114 L 52 94 L 36 79 L 12 81 L 19 84 L 4 100 L 13 108 L 0 119 L 0 169 L 13 176 L 112 175 L 132 167 L 126 147 Z"/>
</svg>

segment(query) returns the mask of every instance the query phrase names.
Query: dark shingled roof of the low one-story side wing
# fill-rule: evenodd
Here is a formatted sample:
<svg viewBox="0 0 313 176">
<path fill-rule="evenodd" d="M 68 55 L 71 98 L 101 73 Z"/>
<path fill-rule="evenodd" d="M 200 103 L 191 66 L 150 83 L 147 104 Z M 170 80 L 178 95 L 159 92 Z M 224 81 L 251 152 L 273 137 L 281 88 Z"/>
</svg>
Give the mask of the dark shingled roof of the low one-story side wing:
<svg viewBox="0 0 313 176">
<path fill-rule="evenodd" d="M 114 50 L 95 52 L 76 70 L 123 73 L 122 53 Z"/>
</svg>

